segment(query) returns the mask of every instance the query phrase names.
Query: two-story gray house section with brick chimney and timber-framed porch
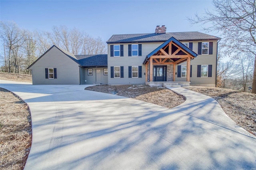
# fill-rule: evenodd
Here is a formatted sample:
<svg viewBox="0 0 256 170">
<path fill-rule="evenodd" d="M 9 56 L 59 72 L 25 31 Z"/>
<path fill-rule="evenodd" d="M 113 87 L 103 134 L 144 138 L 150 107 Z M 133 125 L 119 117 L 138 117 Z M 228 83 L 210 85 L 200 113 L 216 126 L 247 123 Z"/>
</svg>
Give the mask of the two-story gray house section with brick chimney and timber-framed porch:
<svg viewBox="0 0 256 170">
<path fill-rule="evenodd" d="M 108 43 L 108 84 L 216 86 L 219 37 L 200 32 L 112 35 Z"/>
</svg>

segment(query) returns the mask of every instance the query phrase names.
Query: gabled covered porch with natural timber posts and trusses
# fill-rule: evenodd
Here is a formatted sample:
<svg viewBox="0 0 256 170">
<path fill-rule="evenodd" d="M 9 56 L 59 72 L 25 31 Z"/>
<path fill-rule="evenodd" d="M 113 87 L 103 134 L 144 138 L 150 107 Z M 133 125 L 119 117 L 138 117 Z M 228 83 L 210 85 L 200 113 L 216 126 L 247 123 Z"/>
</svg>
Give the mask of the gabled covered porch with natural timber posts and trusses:
<svg viewBox="0 0 256 170">
<path fill-rule="evenodd" d="M 149 55 L 143 64 L 146 68 L 146 84 L 150 86 L 189 86 L 190 61 L 198 54 L 171 37 Z M 186 82 L 176 82 L 176 65 L 186 62 Z M 178 72 L 181 74 L 181 72 Z"/>
</svg>

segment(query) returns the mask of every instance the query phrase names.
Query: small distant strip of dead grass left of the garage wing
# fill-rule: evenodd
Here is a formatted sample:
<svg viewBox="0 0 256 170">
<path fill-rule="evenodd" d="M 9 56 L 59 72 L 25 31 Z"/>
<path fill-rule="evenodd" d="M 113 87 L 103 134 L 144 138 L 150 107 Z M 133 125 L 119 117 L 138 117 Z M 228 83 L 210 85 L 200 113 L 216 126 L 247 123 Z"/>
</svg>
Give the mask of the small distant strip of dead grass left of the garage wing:
<svg viewBox="0 0 256 170">
<path fill-rule="evenodd" d="M 0 72 L 0 80 L 9 80 L 14 82 L 32 82 L 32 76 L 28 74 Z"/>
</svg>

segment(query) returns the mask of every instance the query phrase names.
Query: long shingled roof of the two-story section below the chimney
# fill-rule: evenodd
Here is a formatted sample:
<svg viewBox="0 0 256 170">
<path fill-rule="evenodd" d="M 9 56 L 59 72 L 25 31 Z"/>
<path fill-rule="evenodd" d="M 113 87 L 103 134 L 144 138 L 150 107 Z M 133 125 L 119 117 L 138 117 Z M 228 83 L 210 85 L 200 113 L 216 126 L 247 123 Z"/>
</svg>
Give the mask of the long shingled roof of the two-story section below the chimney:
<svg viewBox="0 0 256 170">
<path fill-rule="evenodd" d="M 174 32 L 174 33 L 141 33 L 141 34 L 120 34 L 112 35 L 107 43 L 132 43 L 132 42 L 162 42 L 167 41 L 171 37 L 179 41 L 190 40 L 214 40 L 220 39 L 205 33 L 194 32 Z"/>
</svg>

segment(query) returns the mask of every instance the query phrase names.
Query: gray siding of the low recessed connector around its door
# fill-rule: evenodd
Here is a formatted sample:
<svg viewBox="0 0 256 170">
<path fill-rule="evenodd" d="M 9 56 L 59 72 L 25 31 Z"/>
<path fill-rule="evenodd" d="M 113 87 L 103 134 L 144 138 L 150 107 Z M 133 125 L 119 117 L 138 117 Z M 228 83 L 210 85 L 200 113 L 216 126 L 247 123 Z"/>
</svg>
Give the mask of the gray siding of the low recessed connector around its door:
<svg viewBox="0 0 256 170">
<path fill-rule="evenodd" d="M 88 75 L 88 68 L 84 68 L 84 84 L 94 84 L 94 83 L 101 83 L 101 84 L 108 84 L 108 75 L 104 75 L 104 68 L 107 67 L 98 67 L 98 68 L 91 68 L 92 75 Z M 96 69 L 100 69 L 101 81 L 96 82 Z"/>
</svg>

